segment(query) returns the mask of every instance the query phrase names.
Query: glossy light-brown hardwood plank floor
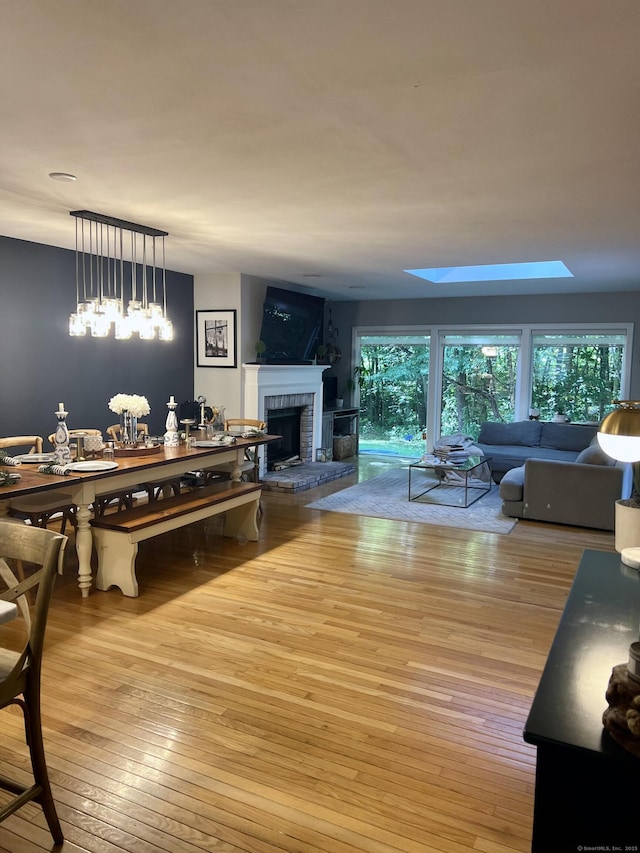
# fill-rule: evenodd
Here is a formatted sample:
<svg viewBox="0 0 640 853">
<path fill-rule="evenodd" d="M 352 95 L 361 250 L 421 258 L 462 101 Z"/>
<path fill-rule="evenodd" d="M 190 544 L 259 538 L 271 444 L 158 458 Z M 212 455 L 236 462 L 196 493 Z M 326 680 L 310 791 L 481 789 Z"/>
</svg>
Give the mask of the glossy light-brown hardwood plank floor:
<svg viewBox="0 0 640 853">
<path fill-rule="evenodd" d="M 70 549 L 42 697 L 65 853 L 529 850 L 523 725 L 580 555 L 613 535 L 304 508 L 356 476 L 265 494 L 257 543 L 218 518 L 142 543 L 137 599 L 82 600 Z M 0 825 L 2 851 L 51 849 L 37 806 Z"/>
</svg>

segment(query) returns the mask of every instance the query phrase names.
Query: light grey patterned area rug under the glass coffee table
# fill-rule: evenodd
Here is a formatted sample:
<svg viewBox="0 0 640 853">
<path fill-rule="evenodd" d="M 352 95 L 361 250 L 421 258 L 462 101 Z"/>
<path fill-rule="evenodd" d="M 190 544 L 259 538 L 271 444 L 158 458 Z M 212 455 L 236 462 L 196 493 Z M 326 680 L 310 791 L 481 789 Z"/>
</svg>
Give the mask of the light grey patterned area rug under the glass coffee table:
<svg viewBox="0 0 640 853">
<path fill-rule="evenodd" d="M 408 477 L 409 472 L 406 468 L 392 474 L 382 474 L 380 477 L 334 492 L 306 506 L 307 509 L 346 512 L 351 515 L 391 518 L 398 521 L 416 521 L 422 524 L 439 524 L 444 527 L 462 527 L 483 533 L 510 533 L 516 524 L 515 518 L 508 518 L 502 514 L 502 501 L 495 484 L 488 494 L 467 509 L 463 509 L 443 506 L 435 502 L 409 501 L 407 499 Z M 444 498 L 446 491 L 446 488 L 438 488 L 429 494 L 428 500 L 433 501 L 436 493 L 439 493 L 438 499 Z M 451 499 L 451 493 L 446 495 L 446 499 Z"/>
</svg>

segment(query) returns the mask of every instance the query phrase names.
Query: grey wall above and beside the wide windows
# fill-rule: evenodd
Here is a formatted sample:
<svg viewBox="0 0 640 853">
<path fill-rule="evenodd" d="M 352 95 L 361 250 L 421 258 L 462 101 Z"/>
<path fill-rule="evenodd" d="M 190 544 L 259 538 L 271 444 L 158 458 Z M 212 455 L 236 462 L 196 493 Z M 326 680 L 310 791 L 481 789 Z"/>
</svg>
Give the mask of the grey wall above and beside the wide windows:
<svg viewBox="0 0 640 853">
<path fill-rule="evenodd" d="M 520 323 L 633 323 L 631 398 L 640 399 L 640 279 L 637 291 L 544 296 L 488 296 L 456 299 L 333 302 L 343 357 L 332 373 L 349 372 L 354 326 L 508 325 Z"/>
</svg>

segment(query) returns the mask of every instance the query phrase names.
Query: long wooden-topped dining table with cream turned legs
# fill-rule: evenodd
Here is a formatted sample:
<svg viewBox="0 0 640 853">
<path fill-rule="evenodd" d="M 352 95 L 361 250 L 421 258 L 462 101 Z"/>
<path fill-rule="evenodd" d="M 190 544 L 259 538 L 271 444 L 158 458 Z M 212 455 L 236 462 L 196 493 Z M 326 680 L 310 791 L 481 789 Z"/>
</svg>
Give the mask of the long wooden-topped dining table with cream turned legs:
<svg viewBox="0 0 640 853">
<path fill-rule="evenodd" d="M 60 489 L 67 492 L 76 506 L 78 587 L 82 597 L 86 598 L 93 584 L 93 535 L 89 521 L 92 517 L 91 507 L 97 499 L 113 492 L 134 490 L 142 483 L 145 487 L 148 483 L 169 483 L 190 471 L 229 462 L 235 466 L 231 479 L 240 482 L 245 451 L 278 440 L 280 436 L 260 434 L 249 438 L 234 437 L 230 443 L 212 440 L 189 444 L 182 442 L 177 447 L 158 444 L 131 451 L 123 449 L 117 452 L 111 463 L 99 459 L 94 460 L 94 464 L 91 460 L 71 463 L 64 474 L 45 473 L 39 470 L 40 465 L 23 461 L 20 465 L 6 469 L 19 473 L 20 478 L 0 487 L 0 517 L 8 514 L 11 498 Z"/>
</svg>

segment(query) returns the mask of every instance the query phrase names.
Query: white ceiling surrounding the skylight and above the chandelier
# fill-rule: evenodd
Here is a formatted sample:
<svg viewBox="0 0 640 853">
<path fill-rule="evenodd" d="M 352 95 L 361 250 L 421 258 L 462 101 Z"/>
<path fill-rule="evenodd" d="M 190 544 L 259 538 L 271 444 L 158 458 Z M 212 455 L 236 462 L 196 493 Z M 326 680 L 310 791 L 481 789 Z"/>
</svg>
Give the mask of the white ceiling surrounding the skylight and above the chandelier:
<svg viewBox="0 0 640 853">
<path fill-rule="evenodd" d="M 638 0 L 0 13 L 0 234 L 73 248 L 88 209 L 169 231 L 172 269 L 332 299 L 640 289 Z M 402 272 L 536 260 L 575 278 Z"/>
</svg>

